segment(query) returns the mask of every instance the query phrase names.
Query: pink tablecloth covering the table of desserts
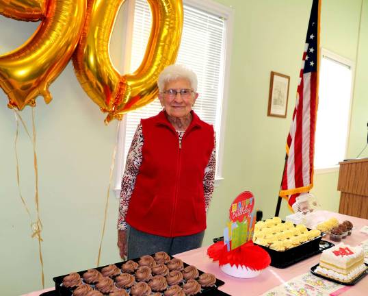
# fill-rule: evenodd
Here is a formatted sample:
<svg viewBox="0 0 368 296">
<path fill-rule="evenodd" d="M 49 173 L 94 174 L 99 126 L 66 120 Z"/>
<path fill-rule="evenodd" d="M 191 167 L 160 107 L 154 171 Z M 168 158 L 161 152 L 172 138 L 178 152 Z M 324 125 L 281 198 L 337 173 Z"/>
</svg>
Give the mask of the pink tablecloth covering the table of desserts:
<svg viewBox="0 0 368 296">
<path fill-rule="evenodd" d="M 343 240 L 343 243 L 355 246 L 361 243 L 363 240 L 368 239 L 367 234 L 359 232 L 360 228 L 363 227 L 363 225 L 368 225 L 368 220 L 328 211 L 323 211 L 323 214 L 326 218 L 337 217 L 337 219 L 339 219 L 339 221 L 341 222 L 344 220 L 352 221 L 352 223 L 354 224 L 353 234 L 351 236 L 347 236 L 347 238 Z M 325 239 L 327 240 L 327 238 Z M 222 271 L 220 271 L 218 267 L 218 262 L 212 262 L 212 260 L 208 258 L 207 247 L 201 247 L 199 249 L 194 249 L 192 251 L 177 254 L 175 257 L 181 258 L 181 260 L 183 260 L 187 264 L 195 265 L 198 269 L 202 271 L 213 273 L 216 277 L 218 277 L 218 279 L 223 280 L 225 284 L 224 286 L 220 287 L 220 290 L 224 291 L 225 293 L 228 293 L 230 295 L 256 296 L 261 295 L 271 288 L 287 282 L 288 280 L 291 280 L 297 275 L 308 272 L 311 267 L 313 267 L 313 265 L 319 262 L 319 256 L 320 255 L 313 256 L 312 258 L 294 264 L 287 269 L 276 269 L 274 267 L 268 267 L 267 269 L 262 271 L 261 275 L 252 279 L 239 279 L 237 277 L 231 277 L 229 275 L 226 275 L 225 273 L 222 273 Z M 41 293 L 50 290 L 52 290 L 52 288 L 25 295 L 38 296 Z M 358 282 L 356 285 L 352 286 L 350 289 L 342 293 L 342 295 L 366 296 L 367 291 L 368 277 L 365 277 L 363 280 L 360 280 L 360 282 Z"/>
</svg>

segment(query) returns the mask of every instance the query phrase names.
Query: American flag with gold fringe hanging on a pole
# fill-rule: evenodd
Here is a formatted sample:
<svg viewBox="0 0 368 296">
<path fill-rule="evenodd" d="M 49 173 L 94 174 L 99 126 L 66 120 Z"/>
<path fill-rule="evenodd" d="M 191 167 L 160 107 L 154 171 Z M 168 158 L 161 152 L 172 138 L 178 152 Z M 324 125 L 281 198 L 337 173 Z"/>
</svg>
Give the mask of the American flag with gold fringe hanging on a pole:
<svg viewBox="0 0 368 296">
<path fill-rule="evenodd" d="M 303 53 L 302 69 L 291 122 L 287 136 L 287 160 L 282 175 L 280 197 L 289 206 L 300 193 L 313 187 L 313 157 L 318 95 L 318 49 L 320 0 L 313 0 L 311 17 Z"/>
</svg>

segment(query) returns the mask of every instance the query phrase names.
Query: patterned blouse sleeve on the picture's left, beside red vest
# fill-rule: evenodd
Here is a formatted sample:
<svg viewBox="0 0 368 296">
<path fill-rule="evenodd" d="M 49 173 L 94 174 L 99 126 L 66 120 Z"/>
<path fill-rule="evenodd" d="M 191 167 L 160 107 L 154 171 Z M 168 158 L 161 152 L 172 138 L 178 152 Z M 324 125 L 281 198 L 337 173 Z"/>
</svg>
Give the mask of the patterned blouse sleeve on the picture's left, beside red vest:
<svg viewBox="0 0 368 296">
<path fill-rule="evenodd" d="M 125 163 L 124 175 L 122 175 L 120 202 L 119 202 L 119 218 L 118 218 L 118 230 L 126 230 L 127 223 L 125 222 L 125 215 L 129 208 L 129 201 L 131 194 L 135 186 L 135 180 L 137 179 L 138 172 L 140 171 L 140 165 L 142 164 L 142 147 L 143 147 L 143 134 L 142 125 L 137 126 L 133 140 L 131 141 L 131 147 L 127 155 L 127 161 Z"/>
</svg>

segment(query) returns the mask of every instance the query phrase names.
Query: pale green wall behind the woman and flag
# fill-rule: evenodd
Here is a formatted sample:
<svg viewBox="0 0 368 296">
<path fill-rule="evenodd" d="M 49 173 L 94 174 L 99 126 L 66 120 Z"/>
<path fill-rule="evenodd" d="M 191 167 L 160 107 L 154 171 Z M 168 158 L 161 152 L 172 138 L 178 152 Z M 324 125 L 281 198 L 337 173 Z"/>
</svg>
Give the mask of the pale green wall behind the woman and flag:
<svg viewBox="0 0 368 296">
<path fill-rule="evenodd" d="M 223 160 L 225 179 L 213 195 L 205 236 L 207 245 L 211 238 L 221 235 L 228 206 L 242 190 L 254 193 L 256 207 L 263 210 L 264 217 L 274 214 L 311 8 L 311 0 L 218 2 L 232 5 L 235 27 Z M 321 45 L 356 60 L 359 15 L 360 0 L 325 0 Z M 34 23 L 0 16 L 0 54 L 21 45 L 35 27 Z M 364 19 L 362 32 L 368 33 L 367 29 L 368 20 Z M 367 46 L 367 39 L 361 36 L 361 64 L 368 62 L 363 54 Z M 113 56 L 119 60 L 118 53 Z M 358 66 L 350 157 L 365 144 L 368 100 L 364 70 L 365 66 Z M 267 117 L 270 71 L 291 77 L 287 119 Z M 45 106 L 39 97 L 36 107 L 46 286 L 53 285 L 55 275 L 96 266 L 116 130 L 116 123 L 103 125 L 103 114 L 79 86 L 71 64 L 51 85 L 51 93 L 54 99 L 49 105 Z M 1 268 L 6 271 L 0 293 L 20 295 L 40 288 L 38 245 L 30 237 L 29 219 L 16 186 L 14 114 L 6 107 L 3 92 L 0 101 L 0 253 Z M 29 108 L 21 114 L 30 127 Z M 19 136 L 18 153 L 22 193 L 34 214 L 33 158 L 24 132 Z M 336 185 L 337 173 L 315 176 L 313 192 L 328 210 L 338 208 Z M 282 217 L 289 214 L 285 204 L 282 203 Z M 101 264 L 119 260 L 117 208 L 118 201 L 111 194 Z"/>
</svg>

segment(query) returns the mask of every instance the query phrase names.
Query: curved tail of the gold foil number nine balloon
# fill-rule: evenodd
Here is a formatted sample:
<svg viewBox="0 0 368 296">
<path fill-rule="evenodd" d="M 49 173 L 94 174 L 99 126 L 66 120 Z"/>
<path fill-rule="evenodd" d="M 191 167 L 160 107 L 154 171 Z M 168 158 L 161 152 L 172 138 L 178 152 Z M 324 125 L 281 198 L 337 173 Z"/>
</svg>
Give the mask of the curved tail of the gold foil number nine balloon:
<svg viewBox="0 0 368 296">
<path fill-rule="evenodd" d="M 77 47 L 86 5 L 86 0 L 47 0 L 46 15 L 36 32 L 21 47 L 0 56 L 0 86 L 8 95 L 10 108 L 23 110 L 26 105 L 34 106 L 38 95 L 46 103 L 51 101 L 49 85 Z"/>
</svg>

